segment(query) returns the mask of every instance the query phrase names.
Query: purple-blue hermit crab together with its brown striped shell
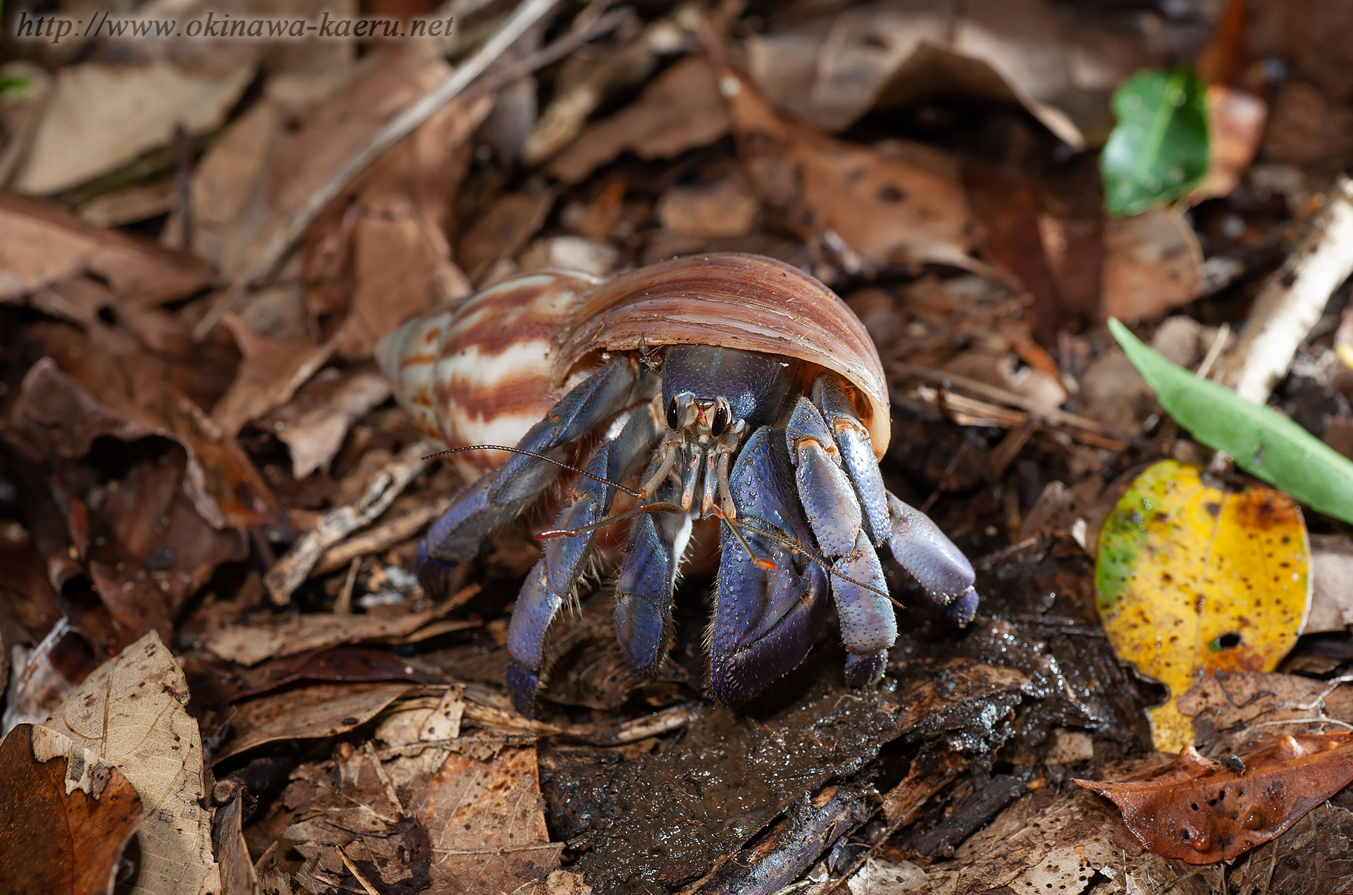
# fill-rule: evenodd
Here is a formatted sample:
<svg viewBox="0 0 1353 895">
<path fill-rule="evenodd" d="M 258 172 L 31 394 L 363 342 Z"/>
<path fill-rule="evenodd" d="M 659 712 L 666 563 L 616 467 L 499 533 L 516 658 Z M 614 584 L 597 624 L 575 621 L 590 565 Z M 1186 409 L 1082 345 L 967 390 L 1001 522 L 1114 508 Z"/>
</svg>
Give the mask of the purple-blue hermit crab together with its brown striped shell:
<svg viewBox="0 0 1353 895">
<path fill-rule="evenodd" d="M 617 521 L 629 533 L 613 577 L 616 634 L 630 670 L 653 676 L 672 642 L 691 523 L 720 520 L 706 645 L 709 689 L 724 703 L 804 659 L 828 594 L 847 681 L 877 681 L 897 638 L 885 544 L 959 624 L 977 608 L 963 554 L 884 487 L 889 402 L 874 344 L 794 267 L 720 253 L 609 282 L 520 276 L 410 320 L 377 360 L 474 479 L 419 544 L 425 580 L 563 498 L 537 533 L 544 556 L 507 632 L 507 685 L 525 714 L 551 620 Z"/>
</svg>

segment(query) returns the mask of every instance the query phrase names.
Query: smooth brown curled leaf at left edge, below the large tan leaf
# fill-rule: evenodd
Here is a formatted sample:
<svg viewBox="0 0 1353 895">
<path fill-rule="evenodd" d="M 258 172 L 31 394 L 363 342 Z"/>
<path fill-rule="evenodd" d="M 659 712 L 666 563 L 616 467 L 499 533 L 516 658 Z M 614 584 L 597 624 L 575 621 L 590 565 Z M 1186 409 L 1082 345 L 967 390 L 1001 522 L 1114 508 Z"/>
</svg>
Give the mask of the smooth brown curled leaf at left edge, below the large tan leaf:
<svg viewBox="0 0 1353 895">
<path fill-rule="evenodd" d="M 87 272 L 119 299 L 141 306 L 184 298 L 212 280 L 211 269 L 195 257 L 0 194 L 0 302 Z"/>
</svg>

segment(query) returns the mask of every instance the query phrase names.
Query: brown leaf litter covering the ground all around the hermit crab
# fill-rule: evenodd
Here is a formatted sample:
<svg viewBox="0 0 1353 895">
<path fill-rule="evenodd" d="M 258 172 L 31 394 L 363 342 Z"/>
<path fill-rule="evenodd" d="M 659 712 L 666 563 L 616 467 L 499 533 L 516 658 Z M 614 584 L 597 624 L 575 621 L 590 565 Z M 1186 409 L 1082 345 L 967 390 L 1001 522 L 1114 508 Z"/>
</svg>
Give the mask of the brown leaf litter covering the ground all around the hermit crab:
<svg viewBox="0 0 1353 895">
<path fill-rule="evenodd" d="M 1345 747 L 1319 747 L 1353 723 L 1330 475 L 1353 443 L 1335 179 L 1353 22 L 1291 5 L 1311 8 L 526 4 L 544 18 L 506 51 L 488 42 L 506 4 L 457 5 L 438 43 L 0 38 L 28 60 L 0 74 L 27 85 L 0 96 L 0 760 L 34 781 L 0 803 L 15 835 L 88 830 L 15 839 L 0 875 L 230 895 L 1353 890 Z M 1191 64 L 1172 107 L 1189 127 L 1105 154 L 1101 185 L 1101 148 L 1124 145 L 1111 96 Z M 147 84 L 156 102 L 120 114 Z M 1123 171 L 1188 191 L 1138 184 L 1135 214 L 1108 217 Z M 861 315 L 892 389 L 885 479 L 974 558 L 980 615 L 953 631 L 889 569 L 909 609 L 885 686 L 842 688 L 828 634 L 735 712 L 704 699 L 694 556 L 656 678 L 624 668 L 602 578 L 524 719 L 502 682 L 536 520 L 428 598 L 415 539 L 476 470 L 421 459 L 436 448 L 372 345 L 518 272 L 704 250 L 786 260 Z M 1291 425 L 1180 385 L 1214 376 Z M 1302 458 L 1334 486 L 1284 478 Z M 1168 552 L 1114 523 L 1161 460 L 1197 479 L 1189 505 L 1281 510 L 1304 630 L 1296 603 L 1281 623 L 1233 607 L 1170 677 L 1164 590 L 1135 646 L 1101 623 L 1115 538 L 1146 565 Z M 1243 561 L 1222 542 L 1252 527 L 1223 516 L 1184 552 Z M 1176 596 L 1166 615 L 1222 623 Z M 1184 770 L 1151 753 L 1164 693 L 1130 661 L 1170 677 Z M 1260 776 L 1281 792 L 1193 816 Z M 135 799 L 154 810 L 110 807 Z M 1137 835 L 1143 810 L 1165 838 Z"/>
</svg>

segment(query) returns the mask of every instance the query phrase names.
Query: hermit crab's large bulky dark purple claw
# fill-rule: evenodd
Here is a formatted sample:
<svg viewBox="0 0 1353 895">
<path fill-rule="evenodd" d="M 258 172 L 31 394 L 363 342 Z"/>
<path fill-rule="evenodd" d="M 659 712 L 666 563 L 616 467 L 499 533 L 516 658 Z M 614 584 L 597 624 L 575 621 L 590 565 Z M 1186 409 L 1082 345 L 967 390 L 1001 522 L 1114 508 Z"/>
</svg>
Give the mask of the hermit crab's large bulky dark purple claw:
<svg viewBox="0 0 1353 895">
<path fill-rule="evenodd" d="M 794 494 L 783 429 L 752 433 L 728 477 L 737 519 L 756 556 L 721 525 L 714 617 L 709 628 L 709 689 L 721 703 L 741 703 L 808 655 L 827 611 L 827 574 L 816 562 L 755 533 L 758 525 L 812 543 Z"/>
</svg>

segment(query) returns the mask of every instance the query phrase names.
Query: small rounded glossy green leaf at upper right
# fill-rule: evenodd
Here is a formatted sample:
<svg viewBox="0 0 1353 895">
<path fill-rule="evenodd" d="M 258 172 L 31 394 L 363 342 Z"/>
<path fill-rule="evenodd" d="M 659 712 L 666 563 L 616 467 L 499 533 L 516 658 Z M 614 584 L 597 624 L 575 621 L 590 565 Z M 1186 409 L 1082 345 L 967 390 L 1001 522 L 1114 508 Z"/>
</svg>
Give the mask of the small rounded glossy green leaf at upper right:
<svg viewBox="0 0 1353 895">
<path fill-rule="evenodd" d="M 1192 69 L 1138 72 L 1114 92 L 1118 125 L 1100 154 L 1115 217 L 1173 202 L 1207 173 L 1207 88 Z"/>
</svg>

